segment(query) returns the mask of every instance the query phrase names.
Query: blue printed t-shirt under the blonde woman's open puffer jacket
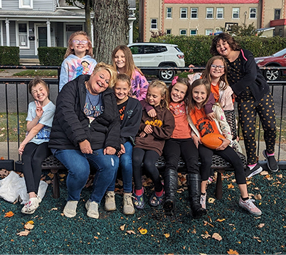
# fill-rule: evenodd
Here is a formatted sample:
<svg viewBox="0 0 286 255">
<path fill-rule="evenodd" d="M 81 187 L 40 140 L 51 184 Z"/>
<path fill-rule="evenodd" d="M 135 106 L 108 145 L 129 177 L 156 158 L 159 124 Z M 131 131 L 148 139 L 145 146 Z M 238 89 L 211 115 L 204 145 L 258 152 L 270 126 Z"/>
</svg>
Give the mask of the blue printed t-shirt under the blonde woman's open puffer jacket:
<svg viewBox="0 0 286 255">
<path fill-rule="evenodd" d="M 102 94 L 90 94 L 88 89 L 86 89 L 85 96 L 85 107 L 83 107 L 83 112 L 90 119 L 90 123 L 102 112 L 105 107 L 102 105 Z"/>
</svg>

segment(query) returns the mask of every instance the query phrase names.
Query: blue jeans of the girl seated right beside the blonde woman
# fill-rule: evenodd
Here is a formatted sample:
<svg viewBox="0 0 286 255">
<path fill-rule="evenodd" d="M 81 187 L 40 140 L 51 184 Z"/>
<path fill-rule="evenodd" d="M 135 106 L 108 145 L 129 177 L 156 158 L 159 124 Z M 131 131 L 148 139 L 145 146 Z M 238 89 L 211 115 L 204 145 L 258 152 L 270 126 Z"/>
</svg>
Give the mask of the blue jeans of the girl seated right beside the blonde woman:
<svg viewBox="0 0 286 255">
<path fill-rule="evenodd" d="M 123 180 L 123 191 L 125 193 L 132 192 L 132 143 L 127 141 L 125 144 L 125 153 L 120 156 L 120 168 L 122 171 L 122 180 Z M 112 180 L 111 185 L 107 188 L 107 191 L 115 190 L 115 182 L 117 178 L 117 172 L 115 177 Z"/>
</svg>

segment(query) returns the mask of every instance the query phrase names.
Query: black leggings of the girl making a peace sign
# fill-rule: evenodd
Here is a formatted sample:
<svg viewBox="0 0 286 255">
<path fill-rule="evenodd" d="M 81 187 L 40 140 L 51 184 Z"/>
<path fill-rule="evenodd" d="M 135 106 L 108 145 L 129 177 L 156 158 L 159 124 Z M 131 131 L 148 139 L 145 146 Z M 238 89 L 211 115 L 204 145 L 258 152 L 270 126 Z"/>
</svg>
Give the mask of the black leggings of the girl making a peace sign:
<svg viewBox="0 0 286 255">
<path fill-rule="evenodd" d="M 43 160 L 51 155 L 48 143 L 27 143 L 23 155 L 23 175 L 26 182 L 27 192 L 35 192 L 38 194 L 38 186 L 40 185 L 42 170 L 41 164 Z"/>
</svg>

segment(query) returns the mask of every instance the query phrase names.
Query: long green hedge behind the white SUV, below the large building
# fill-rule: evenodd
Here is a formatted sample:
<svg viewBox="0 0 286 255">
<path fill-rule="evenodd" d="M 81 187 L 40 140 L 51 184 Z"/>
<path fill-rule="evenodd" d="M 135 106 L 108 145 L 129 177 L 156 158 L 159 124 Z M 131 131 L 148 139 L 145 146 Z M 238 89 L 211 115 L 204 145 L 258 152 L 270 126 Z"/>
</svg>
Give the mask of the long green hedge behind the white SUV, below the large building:
<svg viewBox="0 0 286 255">
<path fill-rule="evenodd" d="M 186 66 L 193 64 L 205 66 L 211 58 L 211 40 L 214 36 L 159 36 L 151 38 L 153 43 L 172 43 L 179 46 L 185 55 Z M 280 36 L 263 38 L 257 36 L 236 37 L 235 41 L 247 50 L 250 50 L 254 57 L 272 55 L 283 48 L 286 48 L 286 38 Z"/>
</svg>

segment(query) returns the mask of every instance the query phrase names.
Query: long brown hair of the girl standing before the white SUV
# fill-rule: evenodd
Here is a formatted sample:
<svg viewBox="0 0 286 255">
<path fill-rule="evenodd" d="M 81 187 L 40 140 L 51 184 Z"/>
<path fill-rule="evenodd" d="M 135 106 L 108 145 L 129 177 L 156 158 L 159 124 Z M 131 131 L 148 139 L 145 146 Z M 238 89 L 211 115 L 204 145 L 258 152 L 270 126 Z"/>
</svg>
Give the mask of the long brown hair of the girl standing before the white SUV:
<svg viewBox="0 0 286 255">
<path fill-rule="evenodd" d="M 126 45 L 118 45 L 113 51 L 112 51 L 112 65 L 117 70 L 117 65 L 115 63 L 115 54 L 118 50 L 122 50 L 123 54 L 125 55 L 125 67 L 126 67 L 126 74 L 132 79 L 132 75 L 134 74 L 134 70 L 137 70 L 141 75 L 143 73 L 139 68 L 134 64 L 134 60 L 132 57 L 132 52 Z"/>
</svg>

